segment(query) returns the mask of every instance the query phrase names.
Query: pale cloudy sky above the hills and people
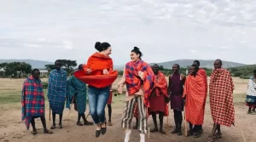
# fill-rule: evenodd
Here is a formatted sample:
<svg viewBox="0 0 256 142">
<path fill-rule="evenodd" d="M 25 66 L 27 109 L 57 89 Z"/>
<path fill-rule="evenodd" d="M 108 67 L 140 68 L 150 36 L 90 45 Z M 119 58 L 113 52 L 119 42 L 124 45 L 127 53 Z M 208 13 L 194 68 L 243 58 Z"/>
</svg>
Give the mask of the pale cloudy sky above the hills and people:
<svg viewBox="0 0 256 142">
<path fill-rule="evenodd" d="M 134 46 L 147 62 L 255 64 L 255 37 L 255 0 L 0 0 L 0 59 L 84 63 L 99 41 L 115 65 Z"/>
</svg>

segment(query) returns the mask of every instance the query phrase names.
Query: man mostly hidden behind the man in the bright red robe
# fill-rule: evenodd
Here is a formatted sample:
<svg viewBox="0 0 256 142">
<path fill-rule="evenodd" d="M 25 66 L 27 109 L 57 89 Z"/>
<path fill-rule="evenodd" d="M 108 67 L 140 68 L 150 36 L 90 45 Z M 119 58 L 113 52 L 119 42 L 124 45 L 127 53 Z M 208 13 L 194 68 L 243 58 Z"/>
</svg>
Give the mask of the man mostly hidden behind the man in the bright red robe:
<svg viewBox="0 0 256 142">
<path fill-rule="evenodd" d="M 202 69 L 202 68 L 199 68 L 200 67 L 200 61 L 199 60 L 195 60 L 193 62 L 193 65 L 195 65 L 196 68 L 198 68 L 198 71 L 197 73 L 200 74 L 202 77 L 204 77 L 204 81 L 205 81 L 205 87 L 206 87 L 206 95 L 208 93 L 208 82 L 207 82 L 207 72 Z M 206 98 L 207 99 L 207 98 Z M 205 101 L 207 102 L 207 101 Z M 206 104 L 205 104 L 206 105 Z M 205 107 L 204 107 L 205 108 Z M 195 125 L 195 128 L 193 128 L 193 131 L 198 131 L 199 133 L 202 133 L 202 125 Z"/>
</svg>

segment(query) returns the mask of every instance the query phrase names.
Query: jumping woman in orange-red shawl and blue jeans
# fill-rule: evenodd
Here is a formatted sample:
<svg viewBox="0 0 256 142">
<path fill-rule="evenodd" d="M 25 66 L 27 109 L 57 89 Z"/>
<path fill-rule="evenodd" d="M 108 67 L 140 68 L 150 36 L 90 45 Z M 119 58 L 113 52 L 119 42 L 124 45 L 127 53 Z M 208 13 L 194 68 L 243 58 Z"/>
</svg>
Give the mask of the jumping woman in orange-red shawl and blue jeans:
<svg viewBox="0 0 256 142">
<path fill-rule="evenodd" d="M 109 43 L 95 44 L 98 52 L 92 54 L 84 65 L 83 73 L 74 76 L 87 83 L 90 116 L 96 123 L 96 137 L 107 132 L 105 106 L 107 105 L 110 86 L 118 77 L 118 71 L 113 71 L 113 60 L 109 57 L 112 52 Z"/>
</svg>

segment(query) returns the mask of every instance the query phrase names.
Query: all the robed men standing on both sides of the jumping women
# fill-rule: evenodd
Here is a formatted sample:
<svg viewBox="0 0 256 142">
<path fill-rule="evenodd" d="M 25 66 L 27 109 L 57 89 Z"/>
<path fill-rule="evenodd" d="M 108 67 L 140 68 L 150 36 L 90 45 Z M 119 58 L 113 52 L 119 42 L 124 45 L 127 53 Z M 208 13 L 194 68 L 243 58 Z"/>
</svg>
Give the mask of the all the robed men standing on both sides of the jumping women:
<svg viewBox="0 0 256 142">
<path fill-rule="evenodd" d="M 230 127 L 235 122 L 235 111 L 233 104 L 234 84 L 230 72 L 223 69 L 222 61 L 214 62 L 214 70 L 210 79 L 209 93 L 212 119 L 214 122 L 212 134 L 206 141 L 213 141 L 222 137 L 220 125 Z M 201 136 L 202 124 L 204 122 L 204 112 L 207 100 L 207 73 L 199 68 L 200 62 L 195 60 L 190 66 L 189 76 L 185 77 L 180 73 L 180 66 L 172 66 L 172 75 L 169 77 L 169 83 L 165 75 L 159 71 L 159 65 L 152 67 L 155 75 L 155 87 L 149 97 L 150 107 L 148 114 L 152 115 L 154 128 L 150 131 L 165 134 L 163 128 L 163 118 L 168 116 L 168 104 L 171 100 L 171 109 L 174 112 L 174 122 L 176 128 L 172 133 L 182 135 L 182 111 L 185 106 L 185 120 L 189 122 L 188 135 L 194 135 L 195 138 Z M 83 66 L 79 66 L 83 70 Z M 44 133 L 52 133 L 46 128 L 44 117 L 44 92 L 42 83 L 39 79 L 40 72 L 37 69 L 32 71 L 32 77 L 26 79 L 23 85 L 21 103 L 22 120 L 25 120 L 26 127 L 32 124 L 33 134 L 37 133 L 34 118 L 41 117 Z M 68 91 L 67 91 L 68 90 Z M 55 70 L 49 74 L 49 107 L 52 110 L 53 123 L 51 129 L 56 128 L 55 115 L 60 116 L 59 128 L 62 127 L 62 113 L 67 97 L 67 108 L 71 103 L 75 103 L 75 110 L 79 112 L 77 125 L 92 125 L 84 115 L 86 107 L 86 85 L 75 77 L 67 80 L 67 72 L 61 69 L 61 62 L 55 61 Z M 111 106 L 110 106 L 111 107 Z M 156 114 L 159 114 L 160 128 L 157 125 Z M 84 124 L 80 122 L 83 118 Z M 111 118 L 109 118 L 111 121 Z M 216 133 L 216 131 L 218 132 Z"/>
</svg>

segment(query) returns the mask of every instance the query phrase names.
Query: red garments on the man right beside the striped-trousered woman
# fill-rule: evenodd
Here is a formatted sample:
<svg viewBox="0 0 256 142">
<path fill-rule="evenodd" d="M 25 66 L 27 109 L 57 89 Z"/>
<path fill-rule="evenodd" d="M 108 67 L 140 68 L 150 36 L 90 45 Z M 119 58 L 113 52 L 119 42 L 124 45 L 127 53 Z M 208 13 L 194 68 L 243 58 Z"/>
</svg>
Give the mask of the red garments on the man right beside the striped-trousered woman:
<svg viewBox="0 0 256 142">
<path fill-rule="evenodd" d="M 167 88 L 168 86 L 167 86 L 166 76 L 162 72 L 158 71 L 158 74 L 155 76 L 154 90 L 151 93 L 150 101 L 154 101 L 154 100 L 151 100 L 151 99 L 154 99 L 154 95 L 156 95 L 156 97 L 160 97 L 160 95 L 164 95 L 165 97 L 168 97 Z M 165 98 L 164 100 L 162 100 L 162 98 L 158 100 L 161 102 L 163 101 L 163 104 L 154 103 L 155 105 L 150 105 L 149 112 L 152 112 L 153 110 L 157 110 L 153 106 L 158 107 L 158 105 L 164 105 L 165 116 L 169 116 L 169 107 L 168 107 L 168 103 L 165 102 Z M 161 107 L 158 107 L 158 108 L 161 108 Z"/>
</svg>

